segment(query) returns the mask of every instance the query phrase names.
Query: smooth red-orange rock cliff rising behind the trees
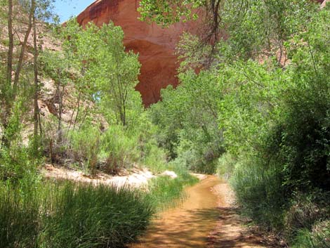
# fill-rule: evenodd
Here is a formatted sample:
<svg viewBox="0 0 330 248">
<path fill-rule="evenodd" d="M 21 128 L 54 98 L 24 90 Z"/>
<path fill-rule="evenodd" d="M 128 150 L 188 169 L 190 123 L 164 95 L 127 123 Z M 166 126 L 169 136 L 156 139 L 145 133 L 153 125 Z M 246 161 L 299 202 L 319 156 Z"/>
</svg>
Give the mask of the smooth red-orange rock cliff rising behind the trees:
<svg viewBox="0 0 330 248">
<path fill-rule="evenodd" d="M 126 49 L 139 53 L 142 67 L 136 89 L 148 106 L 159 100 L 162 88 L 178 85 L 175 47 L 184 31 L 197 32 L 197 23 L 178 23 L 169 28 L 149 25 L 138 20 L 138 3 L 138 0 L 98 0 L 80 13 L 77 20 L 80 25 L 93 21 L 98 26 L 112 20 L 114 25 L 121 26 Z"/>
</svg>

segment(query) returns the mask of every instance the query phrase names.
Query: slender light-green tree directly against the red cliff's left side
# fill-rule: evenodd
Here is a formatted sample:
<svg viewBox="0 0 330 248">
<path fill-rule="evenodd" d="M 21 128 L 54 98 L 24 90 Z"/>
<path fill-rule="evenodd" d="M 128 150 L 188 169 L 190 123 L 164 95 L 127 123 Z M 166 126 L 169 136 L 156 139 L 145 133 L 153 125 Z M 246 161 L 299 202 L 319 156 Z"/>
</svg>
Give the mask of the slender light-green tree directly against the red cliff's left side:
<svg viewBox="0 0 330 248">
<path fill-rule="evenodd" d="M 133 98 L 140 73 L 138 55 L 125 52 L 121 27 L 115 27 L 112 23 L 103 25 L 98 34 L 97 56 L 100 60 L 94 70 L 95 76 L 100 76 L 97 77 L 100 97 L 113 106 L 117 120 L 126 126 L 128 101 Z"/>
</svg>

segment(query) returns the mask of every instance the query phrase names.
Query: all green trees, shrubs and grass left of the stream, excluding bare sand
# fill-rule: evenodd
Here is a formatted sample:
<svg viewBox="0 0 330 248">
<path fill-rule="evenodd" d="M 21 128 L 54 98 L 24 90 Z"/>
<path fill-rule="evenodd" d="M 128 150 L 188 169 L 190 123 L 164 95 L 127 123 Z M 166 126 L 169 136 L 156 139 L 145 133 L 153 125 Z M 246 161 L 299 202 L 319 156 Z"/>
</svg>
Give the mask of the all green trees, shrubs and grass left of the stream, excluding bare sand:
<svg viewBox="0 0 330 248">
<path fill-rule="evenodd" d="M 10 10 L 22 8 L 32 13 L 31 23 L 22 26 L 29 37 L 48 4 L 1 1 L 8 9 L 1 23 L 21 25 Z M 29 56 L 20 60 L 26 51 L 19 53 L 16 37 L 8 37 L 8 49 L 18 54 L 1 53 L 0 247 L 124 247 L 144 233 L 154 213 L 178 203 L 185 185 L 197 178 L 169 165 L 168 152 L 159 148 L 159 128 L 134 89 L 138 55 L 125 52 L 121 27 L 83 29 L 73 19 L 65 27 L 43 28 L 30 48 L 33 62 Z M 1 29 L 1 37 L 6 35 Z M 44 39 L 56 39 L 60 47 L 41 50 Z M 6 74 L 13 68 L 20 70 L 15 81 Z M 147 167 L 155 174 L 171 168 L 178 178 L 159 176 L 141 189 L 45 181 L 39 169 L 46 162 L 91 177 Z"/>
</svg>

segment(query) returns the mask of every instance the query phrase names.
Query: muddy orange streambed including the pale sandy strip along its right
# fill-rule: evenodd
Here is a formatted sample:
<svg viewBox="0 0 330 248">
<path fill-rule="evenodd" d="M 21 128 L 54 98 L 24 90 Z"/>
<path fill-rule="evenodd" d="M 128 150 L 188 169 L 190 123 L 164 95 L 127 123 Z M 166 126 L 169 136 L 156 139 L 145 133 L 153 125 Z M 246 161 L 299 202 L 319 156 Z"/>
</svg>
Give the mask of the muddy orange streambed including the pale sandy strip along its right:
<svg viewBox="0 0 330 248">
<path fill-rule="evenodd" d="M 246 236 L 230 207 L 230 190 L 216 176 L 207 176 L 186 192 L 187 200 L 162 212 L 140 242 L 130 248 L 265 247 L 258 245 L 258 238 Z"/>
</svg>

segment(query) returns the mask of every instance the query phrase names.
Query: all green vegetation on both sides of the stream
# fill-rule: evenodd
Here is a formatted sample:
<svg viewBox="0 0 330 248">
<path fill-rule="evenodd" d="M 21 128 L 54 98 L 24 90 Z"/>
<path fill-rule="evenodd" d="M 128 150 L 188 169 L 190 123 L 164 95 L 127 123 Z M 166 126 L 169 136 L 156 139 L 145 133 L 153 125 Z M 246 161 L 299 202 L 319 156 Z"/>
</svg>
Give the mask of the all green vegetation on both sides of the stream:
<svg viewBox="0 0 330 248">
<path fill-rule="evenodd" d="M 0 4 L 9 31 L 1 29 L 0 245 L 121 247 L 184 197 L 192 170 L 229 178 L 239 211 L 291 247 L 329 247 L 329 4 L 141 1 L 142 19 L 161 25 L 205 11 L 203 34 L 178 44 L 180 85 L 148 109 L 135 90 L 138 55 L 125 51 L 120 27 L 70 20 L 37 39 L 48 1 Z M 20 8 L 23 41 L 13 36 Z M 43 39 L 60 48 L 41 51 Z M 44 183 L 44 162 L 91 176 L 135 164 L 179 177 L 160 176 L 145 191 Z"/>
</svg>

